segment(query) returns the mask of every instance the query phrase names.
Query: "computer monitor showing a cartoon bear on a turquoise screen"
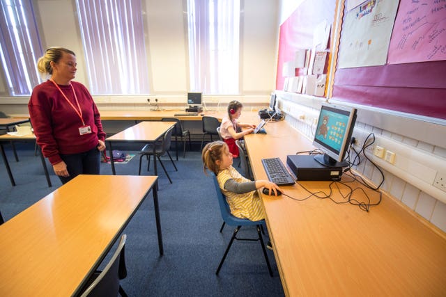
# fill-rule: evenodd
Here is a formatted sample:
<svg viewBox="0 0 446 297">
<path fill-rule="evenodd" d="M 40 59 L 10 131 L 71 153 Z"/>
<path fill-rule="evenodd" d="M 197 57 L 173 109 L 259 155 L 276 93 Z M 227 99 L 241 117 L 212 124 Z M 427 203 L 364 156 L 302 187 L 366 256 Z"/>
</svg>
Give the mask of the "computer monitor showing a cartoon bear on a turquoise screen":
<svg viewBox="0 0 446 297">
<path fill-rule="evenodd" d="M 322 104 L 313 145 L 323 152 L 314 159 L 328 167 L 347 167 L 344 156 L 355 127 L 356 109 Z"/>
</svg>

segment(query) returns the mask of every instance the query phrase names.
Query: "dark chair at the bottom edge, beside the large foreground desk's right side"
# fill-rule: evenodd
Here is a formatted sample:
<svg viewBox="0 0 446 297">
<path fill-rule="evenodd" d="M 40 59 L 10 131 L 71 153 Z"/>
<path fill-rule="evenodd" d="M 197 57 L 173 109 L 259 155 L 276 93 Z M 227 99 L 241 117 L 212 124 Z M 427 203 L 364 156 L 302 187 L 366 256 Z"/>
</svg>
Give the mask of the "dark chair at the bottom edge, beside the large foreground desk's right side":
<svg viewBox="0 0 446 297">
<path fill-rule="evenodd" d="M 118 296 L 118 293 L 123 297 L 127 297 L 127 294 L 125 294 L 125 291 L 119 284 L 119 280 L 123 280 L 127 276 L 124 260 L 125 239 L 127 239 L 127 236 L 123 234 L 112 259 L 110 259 L 103 271 L 95 271 L 93 273 L 81 297 Z"/>
</svg>

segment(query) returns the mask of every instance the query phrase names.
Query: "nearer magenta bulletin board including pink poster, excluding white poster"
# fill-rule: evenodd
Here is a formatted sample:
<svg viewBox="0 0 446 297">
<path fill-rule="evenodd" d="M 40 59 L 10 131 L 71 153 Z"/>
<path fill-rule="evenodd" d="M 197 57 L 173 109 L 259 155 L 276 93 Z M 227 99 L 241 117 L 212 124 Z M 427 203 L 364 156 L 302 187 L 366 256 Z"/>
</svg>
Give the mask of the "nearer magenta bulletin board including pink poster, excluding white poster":
<svg viewBox="0 0 446 297">
<path fill-rule="evenodd" d="M 345 9 L 344 20 L 347 13 Z M 337 67 L 332 98 L 446 119 L 445 28 L 446 6 L 442 1 L 401 0 L 387 61 L 369 67 Z M 344 24 L 341 35 L 343 31 Z M 339 52 L 343 46 L 341 38 Z"/>
</svg>

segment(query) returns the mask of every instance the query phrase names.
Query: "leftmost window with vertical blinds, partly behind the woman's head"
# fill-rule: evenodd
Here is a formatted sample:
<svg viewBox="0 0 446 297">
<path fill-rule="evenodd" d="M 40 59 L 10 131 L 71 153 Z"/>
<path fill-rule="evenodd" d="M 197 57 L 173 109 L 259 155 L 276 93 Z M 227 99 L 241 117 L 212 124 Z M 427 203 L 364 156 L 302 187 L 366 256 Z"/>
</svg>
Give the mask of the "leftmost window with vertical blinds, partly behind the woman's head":
<svg viewBox="0 0 446 297">
<path fill-rule="evenodd" d="M 0 59 L 9 95 L 30 95 L 40 83 L 36 62 L 43 56 L 31 0 L 2 0 Z"/>
</svg>

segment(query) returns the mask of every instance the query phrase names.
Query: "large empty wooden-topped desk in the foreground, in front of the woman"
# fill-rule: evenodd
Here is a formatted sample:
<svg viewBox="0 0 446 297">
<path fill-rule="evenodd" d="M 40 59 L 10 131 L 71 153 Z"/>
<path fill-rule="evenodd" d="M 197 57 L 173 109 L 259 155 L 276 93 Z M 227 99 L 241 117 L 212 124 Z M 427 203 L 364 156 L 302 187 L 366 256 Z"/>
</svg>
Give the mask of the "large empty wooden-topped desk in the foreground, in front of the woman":
<svg viewBox="0 0 446 297">
<path fill-rule="evenodd" d="M 79 175 L 1 225 L 0 295 L 78 294 L 156 179 Z"/>
</svg>

